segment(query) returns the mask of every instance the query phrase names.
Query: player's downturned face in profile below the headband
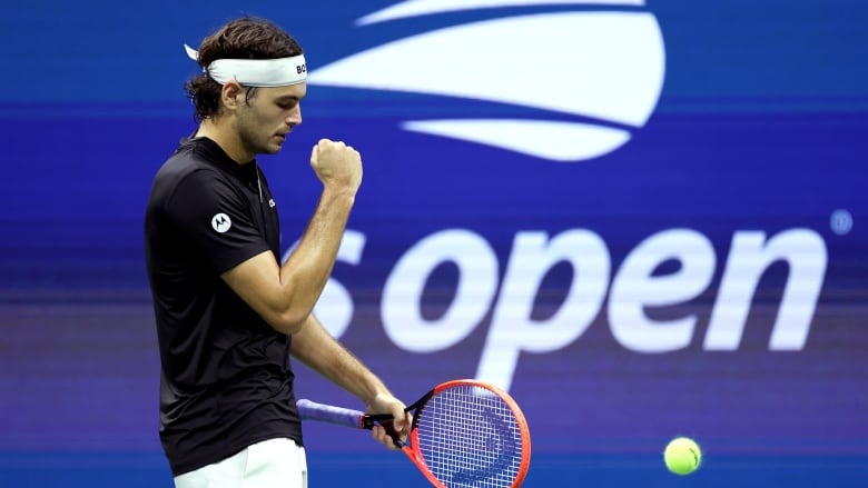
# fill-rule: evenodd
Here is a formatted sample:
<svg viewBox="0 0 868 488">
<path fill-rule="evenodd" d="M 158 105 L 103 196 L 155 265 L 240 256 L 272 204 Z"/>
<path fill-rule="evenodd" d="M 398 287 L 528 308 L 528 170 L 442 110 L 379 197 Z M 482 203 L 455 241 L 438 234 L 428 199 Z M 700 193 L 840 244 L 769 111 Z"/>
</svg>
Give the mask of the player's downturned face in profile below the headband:
<svg viewBox="0 0 868 488">
<path fill-rule="evenodd" d="M 249 104 L 240 102 L 235 129 L 245 149 L 251 155 L 279 152 L 286 136 L 302 123 L 300 102 L 306 93 L 307 83 L 257 88 L 248 98 Z"/>
</svg>

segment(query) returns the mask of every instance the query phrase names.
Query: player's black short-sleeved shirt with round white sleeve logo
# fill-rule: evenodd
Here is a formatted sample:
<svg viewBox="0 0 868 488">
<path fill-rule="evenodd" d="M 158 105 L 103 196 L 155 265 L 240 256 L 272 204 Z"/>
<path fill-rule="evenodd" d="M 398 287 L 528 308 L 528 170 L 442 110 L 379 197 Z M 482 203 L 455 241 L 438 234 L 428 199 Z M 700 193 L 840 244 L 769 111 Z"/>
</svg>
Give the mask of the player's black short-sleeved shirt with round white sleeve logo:
<svg viewBox="0 0 868 488">
<path fill-rule="evenodd" d="M 159 339 L 160 439 L 175 476 L 276 437 L 302 444 L 292 338 L 220 275 L 270 251 L 279 221 L 255 161 L 206 138 L 181 141 L 157 172 L 145 255 Z"/>
</svg>

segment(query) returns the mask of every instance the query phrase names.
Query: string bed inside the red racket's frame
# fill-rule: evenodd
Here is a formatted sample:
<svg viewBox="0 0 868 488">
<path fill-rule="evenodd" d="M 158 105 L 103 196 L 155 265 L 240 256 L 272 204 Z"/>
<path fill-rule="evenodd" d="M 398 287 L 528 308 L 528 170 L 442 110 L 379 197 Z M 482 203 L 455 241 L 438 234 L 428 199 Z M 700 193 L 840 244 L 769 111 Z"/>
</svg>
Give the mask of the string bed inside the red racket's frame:
<svg viewBox="0 0 868 488">
<path fill-rule="evenodd" d="M 521 430 L 509 405 L 476 386 L 445 389 L 418 419 L 418 449 L 450 488 L 511 487 L 521 469 Z"/>
</svg>

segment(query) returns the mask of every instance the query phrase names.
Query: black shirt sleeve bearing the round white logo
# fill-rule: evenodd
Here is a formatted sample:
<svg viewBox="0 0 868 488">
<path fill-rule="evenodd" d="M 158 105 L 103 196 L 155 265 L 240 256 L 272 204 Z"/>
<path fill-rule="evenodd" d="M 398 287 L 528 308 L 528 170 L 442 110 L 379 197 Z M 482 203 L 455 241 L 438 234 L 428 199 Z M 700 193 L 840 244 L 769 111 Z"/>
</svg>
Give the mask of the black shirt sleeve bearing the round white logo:
<svg viewBox="0 0 868 488">
<path fill-rule="evenodd" d="M 166 210 L 218 275 L 269 250 L 247 198 L 215 171 L 187 175 L 168 199 Z"/>
</svg>

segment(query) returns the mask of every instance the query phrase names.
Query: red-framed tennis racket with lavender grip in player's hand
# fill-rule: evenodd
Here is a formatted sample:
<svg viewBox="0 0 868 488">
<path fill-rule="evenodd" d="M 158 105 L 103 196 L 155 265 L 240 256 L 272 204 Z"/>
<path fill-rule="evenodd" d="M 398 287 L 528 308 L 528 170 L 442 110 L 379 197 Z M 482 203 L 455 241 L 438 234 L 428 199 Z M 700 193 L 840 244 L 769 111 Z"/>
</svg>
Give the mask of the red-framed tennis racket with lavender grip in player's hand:
<svg viewBox="0 0 868 488">
<path fill-rule="evenodd" d="M 392 416 L 297 401 L 303 419 L 372 429 Z M 483 381 L 437 385 L 406 408 L 413 415 L 404 454 L 435 487 L 517 487 L 531 462 L 531 434 L 510 395 Z"/>
</svg>

